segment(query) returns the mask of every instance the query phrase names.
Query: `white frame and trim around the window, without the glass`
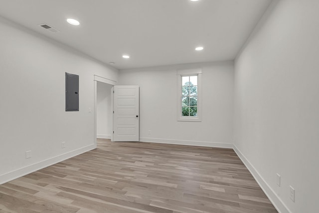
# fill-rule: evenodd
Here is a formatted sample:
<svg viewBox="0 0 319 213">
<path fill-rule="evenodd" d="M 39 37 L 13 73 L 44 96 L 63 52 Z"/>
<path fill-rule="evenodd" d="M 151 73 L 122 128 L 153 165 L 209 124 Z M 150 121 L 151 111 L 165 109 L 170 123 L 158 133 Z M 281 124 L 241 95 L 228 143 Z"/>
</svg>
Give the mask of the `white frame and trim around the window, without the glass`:
<svg viewBox="0 0 319 213">
<path fill-rule="evenodd" d="M 202 95 L 201 95 L 201 88 L 202 88 L 202 71 L 201 68 L 195 69 L 180 69 L 177 70 L 177 121 L 194 121 L 194 122 L 201 122 L 202 119 L 202 110 L 201 110 L 201 103 L 202 103 Z M 197 116 L 182 116 L 181 115 L 181 108 L 182 108 L 182 76 L 197 76 Z"/>
</svg>

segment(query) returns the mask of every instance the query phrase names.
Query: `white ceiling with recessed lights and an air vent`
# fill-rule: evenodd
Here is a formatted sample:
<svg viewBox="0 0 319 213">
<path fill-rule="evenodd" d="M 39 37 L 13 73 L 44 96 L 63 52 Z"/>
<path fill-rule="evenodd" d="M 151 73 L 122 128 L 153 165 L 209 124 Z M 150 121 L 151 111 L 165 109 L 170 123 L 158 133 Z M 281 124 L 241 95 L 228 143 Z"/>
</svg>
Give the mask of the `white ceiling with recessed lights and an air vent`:
<svg viewBox="0 0 319 213">
<path fill-rule="evenodd" d="M 0 15 L 118 69 L 233 60 L 271 0 L 0 0 Z M 66 18 L 80 21 L 79 26 Z M 52 33 L 38 24 L 59 30 Z M 204 50 L 195 51 L 196 46 Z M 123 59 L 126 53 L 130 59 Z"/>
</svg>

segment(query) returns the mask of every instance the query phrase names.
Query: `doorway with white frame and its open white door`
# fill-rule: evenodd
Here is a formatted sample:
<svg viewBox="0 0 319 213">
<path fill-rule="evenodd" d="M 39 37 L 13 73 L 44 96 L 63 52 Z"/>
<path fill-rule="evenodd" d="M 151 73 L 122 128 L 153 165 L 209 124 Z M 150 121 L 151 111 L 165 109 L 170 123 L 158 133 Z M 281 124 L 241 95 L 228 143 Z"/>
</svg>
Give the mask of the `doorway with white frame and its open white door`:
<svg viewBox="0 0 319 213">
<path fill-rule="evenodd" d="M 98 138 L 139 141 L 139 86 L 115 84 L 116 81 L 94 75 L 95 145 Z"/>
</svg>

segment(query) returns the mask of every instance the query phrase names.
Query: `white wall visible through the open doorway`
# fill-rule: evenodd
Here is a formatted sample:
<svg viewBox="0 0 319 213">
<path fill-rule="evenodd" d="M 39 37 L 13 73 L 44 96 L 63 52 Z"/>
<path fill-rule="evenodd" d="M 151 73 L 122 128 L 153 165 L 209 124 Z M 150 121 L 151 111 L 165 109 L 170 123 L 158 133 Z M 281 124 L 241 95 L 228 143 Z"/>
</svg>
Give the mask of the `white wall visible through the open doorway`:
<svg viewBox="0 0 319 213">
<path fill-rule="evenodd" d="M 111 139 L 111 88 L 113 85 L 97 82 L 97 137 Z"/>
</svg>

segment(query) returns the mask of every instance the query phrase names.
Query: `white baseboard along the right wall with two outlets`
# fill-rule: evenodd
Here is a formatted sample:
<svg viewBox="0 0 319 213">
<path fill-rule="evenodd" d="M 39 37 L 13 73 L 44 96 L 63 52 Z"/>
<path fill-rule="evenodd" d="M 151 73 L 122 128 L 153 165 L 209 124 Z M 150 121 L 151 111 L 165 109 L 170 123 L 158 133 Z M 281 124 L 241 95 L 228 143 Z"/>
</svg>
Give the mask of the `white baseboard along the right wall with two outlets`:
<svg viewBox="0 0 319 213">
<path fill-rule="evenodd" d="M 240 158 L 240 160 L 247 167 L 249 172 L 253 175 L 254 179 L 257 181 L 260 188 L 264 191 L 270 202 L 274 205 L 279 213 L 291 213 L 283 201 L 277 196 L 274 190 L 266 183 L 266 181 L 261 177 L 254 166 L 248 161 L 248 159 L 238 150 L 238 148 L 233 145 L 233 149 Z"/>
</svg>

